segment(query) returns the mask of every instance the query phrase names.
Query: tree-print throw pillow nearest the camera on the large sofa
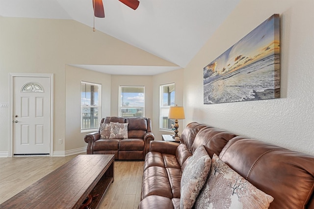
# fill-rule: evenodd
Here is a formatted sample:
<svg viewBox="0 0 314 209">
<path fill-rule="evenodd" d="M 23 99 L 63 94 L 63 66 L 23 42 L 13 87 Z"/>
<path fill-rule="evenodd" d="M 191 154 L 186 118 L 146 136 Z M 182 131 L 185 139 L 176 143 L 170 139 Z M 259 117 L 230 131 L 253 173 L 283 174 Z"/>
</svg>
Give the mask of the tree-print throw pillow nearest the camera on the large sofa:
<svg viewBox="0 0 314 209">
<path fill-rule="evenodd" d="M 209 177 L 194 206 L 195 209 L 268 209 L 273 200 L 214 154 Z"/>
</svg>

